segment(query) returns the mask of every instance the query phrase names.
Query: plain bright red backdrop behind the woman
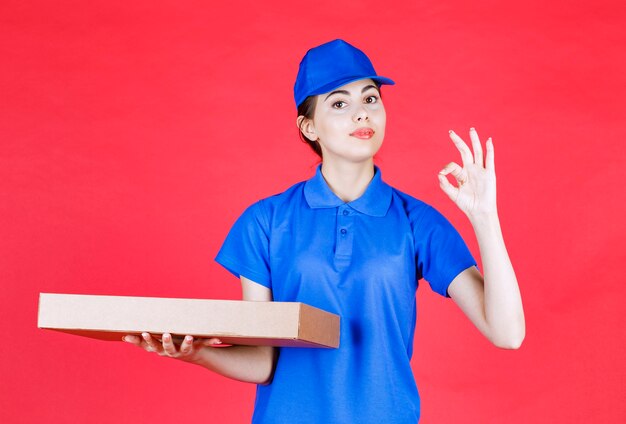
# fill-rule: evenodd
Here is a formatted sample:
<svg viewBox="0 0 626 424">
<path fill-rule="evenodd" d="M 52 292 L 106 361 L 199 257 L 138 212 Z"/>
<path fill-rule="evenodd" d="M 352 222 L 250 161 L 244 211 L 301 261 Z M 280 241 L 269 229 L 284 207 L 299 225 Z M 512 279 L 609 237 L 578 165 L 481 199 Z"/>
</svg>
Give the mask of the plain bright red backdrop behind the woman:
<svg viewBox="0 0 626 424">
<path fill-rule="evenodd" d="M 306 179 L 292 86 L 334 39 L 384 89 L 385 179 L 440 209 L 448 129 L 496 149 L 527 317 L 519 351 L 418 293 L 428 423 L 626 421 L 620 1 L 0 4 L 0 421 L 247 422 L 254 387 L 36 328 L 39 292 L 239 298 L 213 257 L 251 202 Z M 593 3 L 593 4 L 592 4 Z"/>
</svg>

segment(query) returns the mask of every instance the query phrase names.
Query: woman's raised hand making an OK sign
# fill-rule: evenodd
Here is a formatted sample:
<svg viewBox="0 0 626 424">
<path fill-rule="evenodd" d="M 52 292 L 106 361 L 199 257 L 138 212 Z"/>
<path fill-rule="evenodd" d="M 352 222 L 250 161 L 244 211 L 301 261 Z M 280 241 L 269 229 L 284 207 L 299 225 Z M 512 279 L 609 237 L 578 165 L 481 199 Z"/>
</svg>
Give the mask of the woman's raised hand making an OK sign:
<svg viewBox="0 0 626 424">
<path fill-rule="evenodd" d="M 472 150 L 454 131 L 450 130 L 450 138 L 461 153 L 463 167 L 450 162 L 439 172 L 439 186 L 450 199 L 469 217 L 479 217 L 497 213 L 496 208 L 496 172 L 494 167 L 493 142 L 487 139 L 486 154 L 474 128 L 470 128 Z M 453 185 L 448 181 L 451 174 L 457 182 Z"/>
</svg>

